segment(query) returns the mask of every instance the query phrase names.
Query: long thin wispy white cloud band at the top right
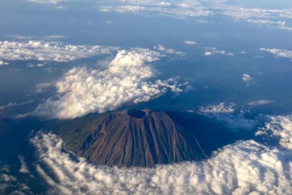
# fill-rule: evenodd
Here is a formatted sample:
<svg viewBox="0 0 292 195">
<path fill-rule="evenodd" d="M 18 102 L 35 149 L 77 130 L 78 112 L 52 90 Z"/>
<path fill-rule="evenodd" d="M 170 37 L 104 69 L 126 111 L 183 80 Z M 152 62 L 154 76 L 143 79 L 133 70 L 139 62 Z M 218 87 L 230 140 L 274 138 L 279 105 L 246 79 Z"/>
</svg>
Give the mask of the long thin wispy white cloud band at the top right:
<svg viewBox="0 0 292 195">
<path fill-rule="evenodd" d="M 246 20 L 256 24 L 266 24 L 280 29 L 292 30 L 286 27 L 286 21 L 292 19 L 291 9 L 260 9 L 235 6 L 230 0 L 115 0 L 119 3 L 112 6 L 101 6 L 100 11 L 131 12 L 147 14 L 156 13 L 186 19 L 189 17 L 208 17 L 213 15 L 224 15 L 236 20 Z M 122 5 L 121 5 L 122 4 Z"/>
</svg>

